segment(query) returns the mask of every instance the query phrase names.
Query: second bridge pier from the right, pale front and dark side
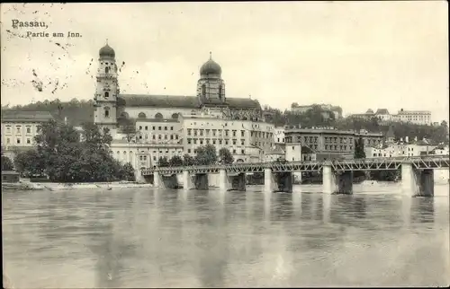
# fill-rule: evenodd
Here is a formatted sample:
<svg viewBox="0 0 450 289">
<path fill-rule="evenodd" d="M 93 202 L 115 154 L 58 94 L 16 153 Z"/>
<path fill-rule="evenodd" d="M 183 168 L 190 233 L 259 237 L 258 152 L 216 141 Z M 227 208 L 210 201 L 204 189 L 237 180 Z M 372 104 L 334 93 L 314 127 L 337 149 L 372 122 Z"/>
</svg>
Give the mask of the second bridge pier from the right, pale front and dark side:
<svg viewBox="0 0 450 289">
<path fill-rule="evenodd" d="M 322 189 L 324 194 L 353 194 L 353 171 L 333 171 L 330 162 L 323 165 Z"/>
</svg>

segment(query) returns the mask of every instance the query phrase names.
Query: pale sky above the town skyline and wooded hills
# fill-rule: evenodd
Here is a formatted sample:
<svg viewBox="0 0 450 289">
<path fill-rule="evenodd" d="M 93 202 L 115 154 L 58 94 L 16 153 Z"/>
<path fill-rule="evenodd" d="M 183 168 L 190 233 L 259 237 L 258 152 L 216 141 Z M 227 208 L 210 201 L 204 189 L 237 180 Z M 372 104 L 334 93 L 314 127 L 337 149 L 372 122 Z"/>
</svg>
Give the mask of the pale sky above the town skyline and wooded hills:
<svg viewBox="0 0 450 289">
<path fill-rule="evenodd" d="M 121 93 L 195 95 L 211 51 L 227 97 L 278 109 L 329 103 L 344 115 L 427 109 L 433 121 L 448 122 L 447 5 L 1 4 L 1 102 L 94 98 L 98 50 L 107 39 L 121 67 Z M 14 20 L 47 28 L 14 29 Z M 81 37 L 67 38 L 68 31 Z M 43 83 L 41 91 L 33 81 Z"/>
</svg>

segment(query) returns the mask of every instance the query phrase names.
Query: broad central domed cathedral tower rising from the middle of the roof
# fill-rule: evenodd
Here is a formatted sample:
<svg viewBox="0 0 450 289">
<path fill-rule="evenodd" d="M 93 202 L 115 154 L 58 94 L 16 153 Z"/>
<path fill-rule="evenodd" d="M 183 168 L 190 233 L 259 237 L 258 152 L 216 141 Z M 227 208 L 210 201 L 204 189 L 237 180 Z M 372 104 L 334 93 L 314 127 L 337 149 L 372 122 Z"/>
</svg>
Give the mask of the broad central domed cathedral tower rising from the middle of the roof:
<svg viewBox="0 0 450 289">
<path fill-rule="evenodd" d="M 197 82 L 197 96 L 202 106 L 226 105 L 225 83 L 221 79 L 220 66 L 210 59 L 200 68 L 200 79 Z"/>
</svg>

